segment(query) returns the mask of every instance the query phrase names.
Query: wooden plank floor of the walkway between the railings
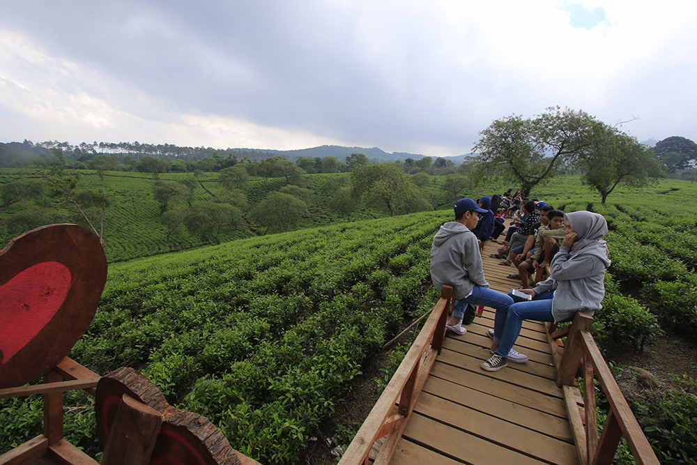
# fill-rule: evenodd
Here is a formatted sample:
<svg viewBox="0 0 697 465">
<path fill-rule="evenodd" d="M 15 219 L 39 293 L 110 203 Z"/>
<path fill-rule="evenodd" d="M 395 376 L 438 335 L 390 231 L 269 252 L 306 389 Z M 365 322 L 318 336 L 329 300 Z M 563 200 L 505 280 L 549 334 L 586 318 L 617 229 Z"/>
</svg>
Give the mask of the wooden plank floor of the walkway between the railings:
<svg viewBox="0 0 697 465">
<path fill-rule="evenodd" d="M 506 277 L 512 266 L 489 257 L 498 247 L 489 242 L 482 253 L 491 289 L 521 287 Z M 515 349 L 530 360 L 493 373 L 480 367 L 491 355 L 489 328 L 493 310 L 486 308 L 466 335 L 448 332 L 392 464 L 579 463 L 544 326 L 523 322 Z"/>
</svg>

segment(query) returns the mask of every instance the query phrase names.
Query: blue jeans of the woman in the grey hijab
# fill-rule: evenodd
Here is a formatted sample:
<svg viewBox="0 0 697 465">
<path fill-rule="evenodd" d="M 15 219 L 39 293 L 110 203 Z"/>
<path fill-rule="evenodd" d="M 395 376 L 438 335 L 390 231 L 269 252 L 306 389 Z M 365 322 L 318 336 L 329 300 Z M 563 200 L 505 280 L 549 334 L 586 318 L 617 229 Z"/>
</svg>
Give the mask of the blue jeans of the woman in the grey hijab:
<svg viewBox="0 0 697 465">
<path fill-rule="evenodd" d="M 533 300 L 521 300 L 514 297 L 513 291 L 508 293 L 516 303 L 508 307 L 506 317 L 501 328 L 493 328 L 493 342 L 498 344 L 496 353 L 502 357 L 507 357 L 513 348 L 523 327 L 523 320 L 533 321 L 554 321 L 552 315 L 552 300 L 554 291 L 544 292 L 535 296 Z M 498 314 L 497 314 L 498 316 Z"/>
</svg>

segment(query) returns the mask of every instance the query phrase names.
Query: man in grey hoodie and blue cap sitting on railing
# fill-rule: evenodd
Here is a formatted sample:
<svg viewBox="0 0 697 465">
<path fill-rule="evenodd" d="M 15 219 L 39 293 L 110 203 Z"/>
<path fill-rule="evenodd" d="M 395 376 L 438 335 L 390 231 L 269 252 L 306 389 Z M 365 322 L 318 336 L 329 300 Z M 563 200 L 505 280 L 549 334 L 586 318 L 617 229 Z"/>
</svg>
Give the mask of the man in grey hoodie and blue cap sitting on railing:
<svg viewBox="0 0 697 465">
<path fill-rule="evenodd" d="M 477 226 L 479 214 L 486 210 L 477 206 L 473 199 L 460 199 L 454 211 L 455 221 L 443 224 L 431 245 L 431 279 L 434 286 L 441 291 L 443 284 L 450 284 L 452 296 L 457 300 L 446 328 L 458 335 L 466 333 L 467 330 L 462 327 L 462 317 L 470 303 L 495 309 L 494 321 L 499 323 L 495 323 L 494 328 L 503 329 L 506 312 L 513 299 L 489 289 L 489 283 L 484 279 L 479 241 L 470 231 Z M 512 349 L 510 352 L 509 360 L 519 363 L 528 361 L 527 356 Z"/>
</svg>

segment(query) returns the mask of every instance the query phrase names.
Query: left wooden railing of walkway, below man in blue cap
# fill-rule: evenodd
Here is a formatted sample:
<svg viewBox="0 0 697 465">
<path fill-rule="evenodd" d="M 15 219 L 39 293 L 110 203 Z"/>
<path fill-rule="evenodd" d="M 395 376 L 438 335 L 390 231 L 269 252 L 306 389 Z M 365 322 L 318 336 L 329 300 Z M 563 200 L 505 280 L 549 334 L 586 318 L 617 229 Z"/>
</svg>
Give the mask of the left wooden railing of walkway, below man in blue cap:
<svg viewBox="0 0 697 465">
<path fill-rule="evenodd" d="M 385 436 L 374 464 L 390 462 L 436 356 L 441 353 L 445 321 L 452 303 L 452 287 L 443 286 L 441 298 L 431 311 L 431 316 L 348 445 L 339 465 L 368 464 L 371 448 Z"/>
</svg>

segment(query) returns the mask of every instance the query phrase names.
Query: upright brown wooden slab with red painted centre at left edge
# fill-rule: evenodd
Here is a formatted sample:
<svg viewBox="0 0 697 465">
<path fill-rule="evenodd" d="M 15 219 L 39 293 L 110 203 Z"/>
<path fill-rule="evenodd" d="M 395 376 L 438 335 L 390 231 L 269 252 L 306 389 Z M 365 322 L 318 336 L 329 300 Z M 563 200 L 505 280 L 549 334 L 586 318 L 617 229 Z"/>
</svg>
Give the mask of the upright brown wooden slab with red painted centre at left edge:
<svg viewBox="0 0 697 465">
<path fill-rule="evenodd" d="M 0 251 L 0 388 L 22 386 L 68 355 L 106 280 L 99 238 L 77 224 L 32 229 Z"/>
</svg>

